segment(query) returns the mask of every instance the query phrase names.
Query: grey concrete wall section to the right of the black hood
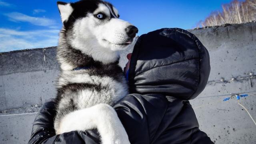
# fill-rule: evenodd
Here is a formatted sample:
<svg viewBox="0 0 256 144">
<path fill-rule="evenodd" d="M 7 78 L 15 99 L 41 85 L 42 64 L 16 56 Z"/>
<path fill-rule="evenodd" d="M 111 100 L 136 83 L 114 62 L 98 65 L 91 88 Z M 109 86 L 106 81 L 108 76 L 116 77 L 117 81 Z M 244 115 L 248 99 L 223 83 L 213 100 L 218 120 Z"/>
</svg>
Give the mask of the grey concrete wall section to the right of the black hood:
<svg viewBox="0 0 256 144">
<path fill-rule="evenodd" d="M 222 96 L 246 93 L 241 103 L 256 119 L 256 23 L 189 30 L 208 48 L 211 60 L 209 83 L 191 104 L 200 129 L 216 144 L 256 144 L 256 125 L 235 99 Z M 252 78 L 250 73 L 254 76 Z M 232 78 L 244 78 L 232 80 Z M 220 80 L 224 82 L 218 82 Z M 250 92 L 250 93 L 249 93 Z"/>
</svg>

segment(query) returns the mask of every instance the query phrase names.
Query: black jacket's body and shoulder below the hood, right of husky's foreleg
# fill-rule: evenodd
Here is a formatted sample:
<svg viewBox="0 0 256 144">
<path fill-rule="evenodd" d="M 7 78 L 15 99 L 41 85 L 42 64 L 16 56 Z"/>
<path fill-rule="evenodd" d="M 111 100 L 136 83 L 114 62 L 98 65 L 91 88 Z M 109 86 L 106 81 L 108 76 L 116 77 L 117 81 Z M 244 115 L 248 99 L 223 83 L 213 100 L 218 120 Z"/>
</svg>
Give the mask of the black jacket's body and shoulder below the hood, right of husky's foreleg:
<svg viewBox="0 0 256 144">
<path fill-rule="evenodd" d="M 213 144 L 188 101 L 130 94 L 114 106 L 131 144 Z"/>
</svg>

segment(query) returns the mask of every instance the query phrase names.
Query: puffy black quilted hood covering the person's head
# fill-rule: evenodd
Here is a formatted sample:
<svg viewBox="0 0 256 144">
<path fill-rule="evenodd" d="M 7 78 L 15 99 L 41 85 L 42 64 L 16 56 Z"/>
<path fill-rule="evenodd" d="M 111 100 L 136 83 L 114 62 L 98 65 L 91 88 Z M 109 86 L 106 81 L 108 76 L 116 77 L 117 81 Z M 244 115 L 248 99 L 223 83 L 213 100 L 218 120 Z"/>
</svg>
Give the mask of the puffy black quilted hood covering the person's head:
<svg viewBox="0 0 256 144">
<path fill-rule="evenodd" d="M 138 38 L 130 61 L 130 92 L 190 100 L 204 90 L 209 74 L 209 53 L 198 38 L 163 28 Z"/>
</svg>

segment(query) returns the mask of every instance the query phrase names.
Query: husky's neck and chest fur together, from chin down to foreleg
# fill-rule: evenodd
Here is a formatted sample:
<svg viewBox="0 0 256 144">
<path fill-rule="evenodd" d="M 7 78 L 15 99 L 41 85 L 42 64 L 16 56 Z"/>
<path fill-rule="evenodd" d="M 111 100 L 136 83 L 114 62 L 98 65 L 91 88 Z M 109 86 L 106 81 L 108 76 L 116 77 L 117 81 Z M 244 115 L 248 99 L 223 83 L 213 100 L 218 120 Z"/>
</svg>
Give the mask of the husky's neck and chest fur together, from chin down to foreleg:
<svg viewBox="0 0 256 144">
<path fill-rule="evenodd" d="M 103 64 L 68 44 L 58 46 L 57 58 L 64 68 L 87 68 L 62 68 L 56 83 L 55 130 L 58 129 L 62 118 L 70 112 L 96 104 L 113 105 L 128 94 L 128 86 L 122 68 L 118 65 L 118 58 L 115 62 Z"/>
</svg>

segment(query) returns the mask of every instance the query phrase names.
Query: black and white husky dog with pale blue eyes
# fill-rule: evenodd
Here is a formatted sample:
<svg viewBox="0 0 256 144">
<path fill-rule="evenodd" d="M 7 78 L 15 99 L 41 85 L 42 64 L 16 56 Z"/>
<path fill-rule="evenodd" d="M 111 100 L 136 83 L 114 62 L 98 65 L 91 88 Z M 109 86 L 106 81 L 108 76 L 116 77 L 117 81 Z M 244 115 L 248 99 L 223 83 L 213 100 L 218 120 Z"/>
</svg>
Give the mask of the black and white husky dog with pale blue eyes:
<svg viewBox="0 0 256 144">
<path fill-rule="evenodd" d="M 119 50 L 138 28 L 102 0 L 57 2 L 63 28 L 57 48 L 56 134 L 97 128 L 103 144 L 130 144 L 112 105 L 128 94 Z"/>
</svg>

